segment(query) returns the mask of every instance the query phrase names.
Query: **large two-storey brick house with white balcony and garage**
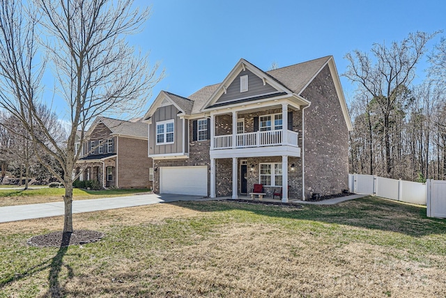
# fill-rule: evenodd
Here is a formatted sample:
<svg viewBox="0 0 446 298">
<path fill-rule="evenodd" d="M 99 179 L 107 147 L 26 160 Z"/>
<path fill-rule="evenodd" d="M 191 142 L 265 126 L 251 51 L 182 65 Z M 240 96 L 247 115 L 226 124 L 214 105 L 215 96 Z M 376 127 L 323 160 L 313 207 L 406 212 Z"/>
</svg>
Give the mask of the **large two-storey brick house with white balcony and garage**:
<svg viewBox="0 0 446 298">
<path fill-rule="evenodd" d="M 332 56 L 267 72 L 240 59 L 189 97 L 162 91 L 144 122 L 155 192 L 238 198 L 261 183 L 286 202 L 348 188 L 352 126 Z"/>
</svg>

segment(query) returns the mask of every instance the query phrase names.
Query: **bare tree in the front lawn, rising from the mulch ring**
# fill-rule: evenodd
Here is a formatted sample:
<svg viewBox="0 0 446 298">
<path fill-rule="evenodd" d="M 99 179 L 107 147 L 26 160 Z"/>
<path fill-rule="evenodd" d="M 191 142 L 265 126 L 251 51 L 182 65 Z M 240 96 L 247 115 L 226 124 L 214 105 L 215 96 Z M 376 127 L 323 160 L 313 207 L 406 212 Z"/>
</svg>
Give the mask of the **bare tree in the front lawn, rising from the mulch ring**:
<svg viewBox="0 0 446 298">
<path fill-rule="evenodd" d="M 60 175 L 49 168 L 66 190 L 64 233 L 73 230 L 72 172 L 80 154 L 75 154 L 77 130 L 83 143 L 86 126 L 100 114 L 141 111 L 151 88 L 164 75 L 157 75 L 158 65 L 149 68 L 148 56 L 135 54 L 125 42 L 125 36 L 139 32 L 149 15 L 148 9 L 132 10 L 132 2 L 36 0 L 20 9 L 20 3 L 0 0 L 0 76 L 6 78 L 0 83 L 0 104 L 22 121 L 33 143 L 63 169 Z M 20 15 L 24 11 L 26 19 Z M 38 115 L 36 95 L 46 64 L 35 59 L 37 26 L 58 82 L 56 90 L 67 103 L 71 127 L 63 145 L 54 139 L 55 128 Z"/>
</svg>

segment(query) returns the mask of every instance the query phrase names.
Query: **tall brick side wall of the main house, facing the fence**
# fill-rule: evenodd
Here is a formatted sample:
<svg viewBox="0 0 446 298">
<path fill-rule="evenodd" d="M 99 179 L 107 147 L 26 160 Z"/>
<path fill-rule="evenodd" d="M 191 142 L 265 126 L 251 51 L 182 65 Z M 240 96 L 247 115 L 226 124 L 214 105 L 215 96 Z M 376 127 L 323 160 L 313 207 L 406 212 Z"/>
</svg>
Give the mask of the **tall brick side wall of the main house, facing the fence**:
<svg viewBox="0 0 446 298">
<path fill-rule="evenodd" d="M 301 94 L 305 109 L 305 196 L 348 188 L 348 129 L 328 65 Z"/>
</svg>

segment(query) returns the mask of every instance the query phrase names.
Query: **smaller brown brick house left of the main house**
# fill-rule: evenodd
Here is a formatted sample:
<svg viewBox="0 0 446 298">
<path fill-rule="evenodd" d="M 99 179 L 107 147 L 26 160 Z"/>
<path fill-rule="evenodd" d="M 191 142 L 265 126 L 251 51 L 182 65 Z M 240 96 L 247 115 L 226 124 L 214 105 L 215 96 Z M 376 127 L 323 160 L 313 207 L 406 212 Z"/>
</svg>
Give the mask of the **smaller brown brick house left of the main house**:
<svg viewBox="0 0 446 298">
<path fill-rule="evenodd" d="M 137 120 L 98 117 L 86 132 L 75 175 L 102 187 L 151 188 L 152 159 L 147 157 L 147 125 Z"/>
</svg>

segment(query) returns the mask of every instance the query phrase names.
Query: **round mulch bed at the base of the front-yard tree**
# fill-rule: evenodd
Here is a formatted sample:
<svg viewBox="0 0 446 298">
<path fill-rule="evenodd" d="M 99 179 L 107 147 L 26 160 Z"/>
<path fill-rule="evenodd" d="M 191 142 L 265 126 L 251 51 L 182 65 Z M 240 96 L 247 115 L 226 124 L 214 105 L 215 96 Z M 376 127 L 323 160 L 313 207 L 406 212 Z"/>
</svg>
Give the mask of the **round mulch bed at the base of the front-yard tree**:
<svg viewBox="0 0 446 298">
<path fill-rule="evenodd" d="M 60 231 L 31 237 L 28 240 L 28 244 L 38 247 L 63 247 L 97 242 L 102 237 L 104 237 L 104 234 L 95 230 L 75 230 L 73 233 L 62 233 Z"/>
</svg>

